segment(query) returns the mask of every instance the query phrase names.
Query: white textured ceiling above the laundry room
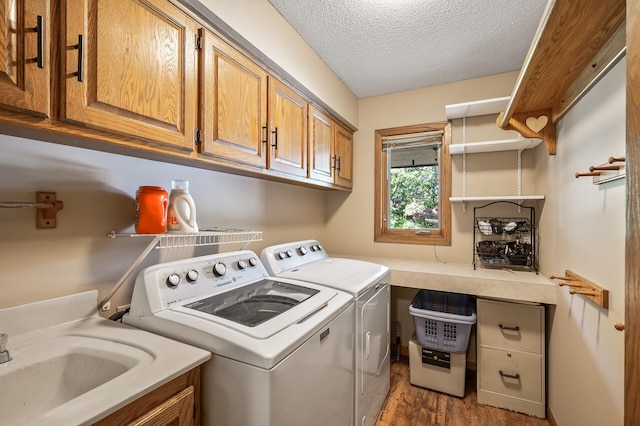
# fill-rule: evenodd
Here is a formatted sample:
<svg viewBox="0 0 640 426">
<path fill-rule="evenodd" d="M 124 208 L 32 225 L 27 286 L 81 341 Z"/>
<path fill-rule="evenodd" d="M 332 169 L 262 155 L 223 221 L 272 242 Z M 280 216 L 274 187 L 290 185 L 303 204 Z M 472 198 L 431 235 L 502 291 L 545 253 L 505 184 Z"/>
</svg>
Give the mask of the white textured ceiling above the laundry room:
<svg viewBox="0 0 640 426">
<path fill-rule="evenodd" d="M 269 0 L 358 98 L 519 70 L 547 0 Z"/>
</svg>

